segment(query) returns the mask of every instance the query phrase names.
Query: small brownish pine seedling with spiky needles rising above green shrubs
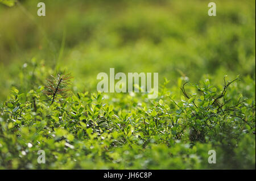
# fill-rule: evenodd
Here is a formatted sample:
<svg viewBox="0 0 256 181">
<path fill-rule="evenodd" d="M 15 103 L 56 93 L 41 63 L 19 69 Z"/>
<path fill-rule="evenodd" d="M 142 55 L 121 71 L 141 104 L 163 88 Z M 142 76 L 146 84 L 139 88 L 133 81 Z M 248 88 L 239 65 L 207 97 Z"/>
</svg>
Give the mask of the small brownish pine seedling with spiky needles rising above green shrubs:
<svg viewBox="0 0 256 181">
<path fill-rule="evenodd" d="M 63 74 L 58 74 L 57 77 L 51 75 L 51 77 L 47 79 L 44 93 L 51 97 L 51 104 L 53 104 L 56 99 L 67 98 L 71 91 L 68 89 L 68 86 L 71 85 L 72 78 L 71 73 L 65 74 L 64 71 Z"/>
</svg>

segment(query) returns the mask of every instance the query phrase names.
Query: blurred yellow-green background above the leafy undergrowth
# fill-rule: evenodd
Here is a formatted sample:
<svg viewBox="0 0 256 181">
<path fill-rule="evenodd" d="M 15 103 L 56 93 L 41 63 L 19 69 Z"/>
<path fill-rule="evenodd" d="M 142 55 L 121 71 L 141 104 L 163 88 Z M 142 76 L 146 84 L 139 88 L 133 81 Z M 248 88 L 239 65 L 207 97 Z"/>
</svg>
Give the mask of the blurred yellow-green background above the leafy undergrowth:
<svg viewBox="0 0 256 181">
<path fill-rule="evenodd" d="M 38 16 L 38 2 L 46 16 Z M 255 81 L 255 1 L 19 1 L 0 4 L 0 102 L 11 86 L 31 89 L 66 69 L 73 91 L 96 90 L 98 73 L 158 72 L 159 82 L 205 74 Z M 38 66 L 34 75 L 28 66 Z M 43 85 L 44 82 L 32 86 Z"/>
</svg>

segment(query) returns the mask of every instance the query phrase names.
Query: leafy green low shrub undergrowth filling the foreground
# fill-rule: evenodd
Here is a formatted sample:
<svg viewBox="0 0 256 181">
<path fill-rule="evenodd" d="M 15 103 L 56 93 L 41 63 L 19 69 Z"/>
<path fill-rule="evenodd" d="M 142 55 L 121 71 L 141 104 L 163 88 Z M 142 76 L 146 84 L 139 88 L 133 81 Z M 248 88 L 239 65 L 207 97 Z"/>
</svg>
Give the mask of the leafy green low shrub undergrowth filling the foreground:
<svg viewBox="0 0 256 181">
<path fill-rule="evenodd" d="M 1 168 L 255 169 L 255 94 L 243 89 L 246 79 L 224 77 L 214 86 L 205 78 L 180 90 L 166 88 L 166 79 L 149 100 L 88 91 L 65 98 L 69 78 L 58 74 L 23 92 L 13 87 L 0 110 Z M 39 150 L 45 164 L 37 162 Z M 208 163 L 209 150 L 216 164 Z"/>
</svg>

